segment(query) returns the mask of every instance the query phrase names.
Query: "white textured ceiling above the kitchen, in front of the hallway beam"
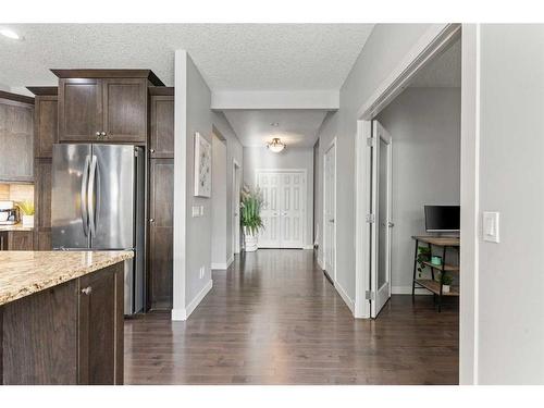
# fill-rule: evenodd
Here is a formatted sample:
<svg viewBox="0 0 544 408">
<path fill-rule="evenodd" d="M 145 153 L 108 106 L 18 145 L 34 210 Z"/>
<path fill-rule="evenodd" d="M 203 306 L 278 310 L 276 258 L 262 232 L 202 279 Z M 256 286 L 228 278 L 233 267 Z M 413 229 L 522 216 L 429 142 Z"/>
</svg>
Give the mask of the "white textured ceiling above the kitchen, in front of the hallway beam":
<svg viewBox="0 0 544 408">
<path fill-rule="evenodd" d="M 186 49 L 212 89 L 338 89 L 372 24 L 8 24 L 0 83 L 52 85 L 49 69 L 151 69 L 174 84 Z"/>
</svg>

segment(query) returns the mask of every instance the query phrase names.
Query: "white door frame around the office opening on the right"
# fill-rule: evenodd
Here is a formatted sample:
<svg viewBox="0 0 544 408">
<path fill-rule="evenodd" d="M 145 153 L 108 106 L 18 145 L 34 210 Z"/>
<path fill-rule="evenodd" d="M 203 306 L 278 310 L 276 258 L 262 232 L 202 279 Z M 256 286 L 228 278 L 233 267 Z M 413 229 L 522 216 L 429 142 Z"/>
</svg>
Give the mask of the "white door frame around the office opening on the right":
<svg viewBox="0 0 544 408">
<path fill-rule="evenodd" d="M 370 319 L 370 227 L 367 215 L 370 214 L 370 188 L 368 180 L 371 174 L 368 158 L 368 139 L 372 137 L 372 120 L 403 90 L 410 81 L 430 62 L 455 42 L 461 34 L 460 24 L 433 24 L 421 36 L 407 55 L 392 70 L 391 75 L 380 84 L 374 94 L 357 111 L 357 136 L 355 141 L 356 169 L 356 297 L 355 318 Z M 465 86 L 465 83 L 463 83 Z M 461 133 L 462 144 L 462 133 Z M 462 149 L 461 149 L 462 154 Z M 461 177 L 462 178 L 462 177 Z M 462 195 L 462 180 L 461 180 Z M 462 200 L 461 200 L 462 201 Z M 462 222 L 461 212 L 461 224 Z M 463 245 L 465 250 L 469 249 Z M 470 249 L 469 249 L 470 250 Z M 462 251 L 462 249 L 461 249 Z M 462 258 L 462 255 L 461 255 Z"/>
</svg>

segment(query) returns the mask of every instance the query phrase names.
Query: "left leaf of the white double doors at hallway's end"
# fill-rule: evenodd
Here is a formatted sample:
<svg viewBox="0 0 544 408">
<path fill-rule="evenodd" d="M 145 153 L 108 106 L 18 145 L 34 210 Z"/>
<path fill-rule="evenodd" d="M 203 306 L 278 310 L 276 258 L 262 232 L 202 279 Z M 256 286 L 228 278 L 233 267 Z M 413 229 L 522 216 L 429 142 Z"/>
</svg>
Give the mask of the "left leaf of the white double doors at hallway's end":
<svg viewBox="0 0 544 408">
<path fill-rule="evenodd" d="M 259 173 L 257 177 L 264 200 L 261 210 L 264 228 L 259 233 L 258 244 L 261 248 L 279 248 L 281 246 L 280 175 Z"/>
</svg>

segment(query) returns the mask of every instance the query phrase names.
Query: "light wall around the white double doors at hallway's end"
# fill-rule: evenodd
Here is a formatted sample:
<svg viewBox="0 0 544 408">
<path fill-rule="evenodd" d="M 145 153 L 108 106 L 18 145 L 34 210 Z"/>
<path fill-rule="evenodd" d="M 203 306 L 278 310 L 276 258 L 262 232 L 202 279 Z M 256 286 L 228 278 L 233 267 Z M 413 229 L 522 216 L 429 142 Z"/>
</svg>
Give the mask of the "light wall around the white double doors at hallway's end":
<svg viewBox="0 0 544 408">
<path fill-rule="evenodd" d="M 307 171 L 305 245 L 311 246 L 313 244 L 313 148 L 287 147 L 280 153 L 273 153 L 267 147 L 244 147 L 244 183 L 250 187 L 255 187 L 257 169 L 305 169 Z"/>
</svg>

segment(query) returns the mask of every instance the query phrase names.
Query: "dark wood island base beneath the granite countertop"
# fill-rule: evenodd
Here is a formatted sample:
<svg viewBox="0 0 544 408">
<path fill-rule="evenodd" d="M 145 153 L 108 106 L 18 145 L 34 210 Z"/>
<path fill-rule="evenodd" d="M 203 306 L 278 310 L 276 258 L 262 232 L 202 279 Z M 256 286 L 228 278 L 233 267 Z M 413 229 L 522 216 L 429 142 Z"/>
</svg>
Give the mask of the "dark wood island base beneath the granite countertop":
<svg viewBox="0 0 544 408">
<path fill-rule="evenodd" d="M 0 307 L 2 384 L 123 383 L 123 263 Z"/>
</svg>

